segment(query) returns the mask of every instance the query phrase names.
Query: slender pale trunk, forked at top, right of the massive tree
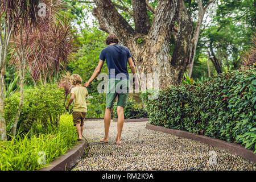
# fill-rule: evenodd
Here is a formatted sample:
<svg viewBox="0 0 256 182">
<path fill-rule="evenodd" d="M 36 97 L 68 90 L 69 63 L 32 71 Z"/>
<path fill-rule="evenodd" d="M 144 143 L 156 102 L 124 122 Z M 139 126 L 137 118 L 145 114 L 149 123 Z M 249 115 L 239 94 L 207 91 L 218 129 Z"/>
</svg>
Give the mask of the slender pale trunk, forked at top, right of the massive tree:
<svg viewBox="0 0 256 182">
<path fill-rule="evenodd" d="M 199 35 L 200 35 L 200 28 L 201 24 L 204 19 L 205 12 L 207 11 L 209 5 L 213 3 L 215 0 L 210 0 L 205 7 L 203 7 L 203 3 L 201 0 L 197 0 L 198 6 L 199 6 L 199 13 L 198 13 L 198 19 L 196 22 L 196 28 L 193 33 L 193 38 L 191 40 L 192 43 L 192 52 L 189 57 L 189 64 L 188 64 L 188 76 L 191 77 L 192 71 L 193 71 L 193 65 L 195 61 L 195 56 L 196 56 L 196 46 L 199 40 Z"/>
</svg>

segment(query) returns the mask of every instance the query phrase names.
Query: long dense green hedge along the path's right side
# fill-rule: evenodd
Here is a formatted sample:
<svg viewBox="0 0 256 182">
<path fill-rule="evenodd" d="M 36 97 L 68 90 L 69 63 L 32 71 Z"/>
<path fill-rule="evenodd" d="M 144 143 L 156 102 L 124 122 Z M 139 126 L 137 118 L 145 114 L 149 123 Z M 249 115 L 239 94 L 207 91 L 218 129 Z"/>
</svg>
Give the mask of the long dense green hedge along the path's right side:
<svg viewBox="0 0 256 182">
<path fill-rule="evenodd" d="M 256 69 L 232 71 L 203 84 L 170 86 L 147 104 L 152 125 L 240 143 L 256 152 Z"/>
</svg>

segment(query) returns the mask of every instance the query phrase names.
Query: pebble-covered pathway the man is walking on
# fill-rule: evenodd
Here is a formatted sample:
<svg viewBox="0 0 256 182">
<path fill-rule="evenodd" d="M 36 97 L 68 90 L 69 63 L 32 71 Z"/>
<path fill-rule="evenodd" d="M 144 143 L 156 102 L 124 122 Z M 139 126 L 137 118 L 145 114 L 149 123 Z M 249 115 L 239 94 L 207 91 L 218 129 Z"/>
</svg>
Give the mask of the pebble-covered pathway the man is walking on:
<svg viewBox="0 0 256 182">
<path fill-rule="evenodd" d="M 146 129 L 146 122 L 123 125 L 122 143 L 115 144 L 117 122 L 110 123 L 109 143 L 104 137 L 104 121 L 86 121 L 84 137 L 89 154 L 72 170 L 253 170 L 256 165 L 229 151 L 220 150 L 186 138 Z M 216 164 L 209 163 L 210 151 L 216 152 Z"/>
</svg>

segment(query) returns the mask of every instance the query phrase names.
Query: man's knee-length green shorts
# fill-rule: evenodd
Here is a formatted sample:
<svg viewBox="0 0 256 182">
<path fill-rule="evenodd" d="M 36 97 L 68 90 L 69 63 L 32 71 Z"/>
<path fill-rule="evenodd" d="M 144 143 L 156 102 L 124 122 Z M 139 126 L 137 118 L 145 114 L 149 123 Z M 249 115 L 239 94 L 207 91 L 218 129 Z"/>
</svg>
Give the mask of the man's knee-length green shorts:
<svg viewBox="0 0 256 182">
<path fill-rule="evenodd" d="M 125 107 L 129 95 L 129 80 L 115 80 L 109 78 L 106 92 L 106 107 L 112 108 L 115 97 L 117 97 L 117 106 Z"/>
</svg>

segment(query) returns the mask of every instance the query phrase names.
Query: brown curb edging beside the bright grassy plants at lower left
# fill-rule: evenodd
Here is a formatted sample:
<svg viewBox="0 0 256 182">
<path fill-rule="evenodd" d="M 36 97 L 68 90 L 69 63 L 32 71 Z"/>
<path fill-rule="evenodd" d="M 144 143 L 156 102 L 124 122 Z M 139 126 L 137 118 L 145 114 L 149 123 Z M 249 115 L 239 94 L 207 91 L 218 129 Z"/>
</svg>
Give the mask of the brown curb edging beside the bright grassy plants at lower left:
<svg viewBox="0 0 256 182">
<path fill-rule="evenodd" d="M 65 154 L 61 155 L 59 158 L 53 160 L 47 166 L 39 169 L 39 171 L 67 171 L 71 169 L 77 163 L 86 152 L 87 142 L 82 139 L 73 148 L 67 151 Z"/>
</svg>

